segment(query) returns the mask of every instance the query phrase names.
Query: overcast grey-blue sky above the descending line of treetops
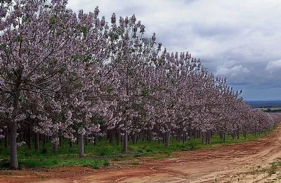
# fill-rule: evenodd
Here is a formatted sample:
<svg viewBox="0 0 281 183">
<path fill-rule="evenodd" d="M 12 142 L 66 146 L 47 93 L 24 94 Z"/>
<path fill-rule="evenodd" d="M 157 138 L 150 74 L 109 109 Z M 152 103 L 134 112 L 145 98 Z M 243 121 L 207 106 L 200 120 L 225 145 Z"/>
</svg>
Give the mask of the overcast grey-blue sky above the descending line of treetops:
<svg viewBox="0 0 281 183">
<path fill-rule="evenodd" d="M 199 57 L 246 100 L 281 100 L 280 0 L 69 0 L 74 11 L 110 21 L 136 15 L 169 52 Z"/>
</svg>

